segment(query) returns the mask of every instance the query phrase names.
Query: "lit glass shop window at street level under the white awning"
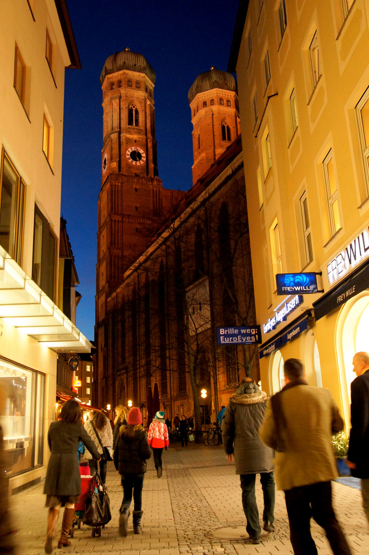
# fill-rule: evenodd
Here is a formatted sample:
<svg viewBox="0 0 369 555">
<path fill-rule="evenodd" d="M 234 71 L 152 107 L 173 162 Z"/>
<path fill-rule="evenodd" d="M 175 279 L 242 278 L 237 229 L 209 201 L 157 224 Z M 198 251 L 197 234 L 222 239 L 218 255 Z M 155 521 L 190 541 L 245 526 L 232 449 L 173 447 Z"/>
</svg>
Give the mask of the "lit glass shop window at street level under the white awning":
<svg viewBox="0 0 369 555">
<path fill-rule="evenodd" d="M 43 464 L 45 376 L 0 358 L 0 425 L 7 475 Z"/>
</svg>

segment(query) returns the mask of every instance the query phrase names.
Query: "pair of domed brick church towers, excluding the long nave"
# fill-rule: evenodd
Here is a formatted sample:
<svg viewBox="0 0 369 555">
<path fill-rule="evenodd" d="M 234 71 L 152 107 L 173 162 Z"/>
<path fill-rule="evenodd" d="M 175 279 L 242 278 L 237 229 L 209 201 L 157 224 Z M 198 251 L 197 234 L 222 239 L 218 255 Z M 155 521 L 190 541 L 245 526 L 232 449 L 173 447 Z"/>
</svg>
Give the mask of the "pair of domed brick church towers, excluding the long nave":
<svg viewBox="0 0 369 555">
<path fill-rule="evenodd" d="M 184 195 L 164 189 L 158 176 L 155 72 L 148 61 L 129 48 L 113 54 L 105 61 L 100 84 L 104 114 L 95 297 L 98 351 L 105 345 L 108 296 Z M 211 68 L 198 75 L 188 99 L 195 184 L 240 133 L 235 80 Z"/>
</svg>

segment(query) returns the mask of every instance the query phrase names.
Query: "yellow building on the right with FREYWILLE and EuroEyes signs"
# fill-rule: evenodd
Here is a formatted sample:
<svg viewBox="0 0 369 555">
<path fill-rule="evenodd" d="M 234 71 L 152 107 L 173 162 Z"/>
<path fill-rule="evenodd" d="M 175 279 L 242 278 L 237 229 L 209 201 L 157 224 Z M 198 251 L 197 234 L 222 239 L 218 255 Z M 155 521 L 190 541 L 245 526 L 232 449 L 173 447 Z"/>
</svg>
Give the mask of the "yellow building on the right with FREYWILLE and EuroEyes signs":
<svg viewBox="0 0 369 555">
<path fill-rule="evenodd" d="M 333 392 L 346 429 L 352 357 L 369 351 L 368 24 L 367 0 L 241 0 L 228 68 L 239 88 L 262 387 L 279 391 L 284 360 L 299 358 L 309 384 Z M 318 274 L 319 292 L 287 275 L 277 295 L 276 274 L 304 273 Z"/>
</svg>

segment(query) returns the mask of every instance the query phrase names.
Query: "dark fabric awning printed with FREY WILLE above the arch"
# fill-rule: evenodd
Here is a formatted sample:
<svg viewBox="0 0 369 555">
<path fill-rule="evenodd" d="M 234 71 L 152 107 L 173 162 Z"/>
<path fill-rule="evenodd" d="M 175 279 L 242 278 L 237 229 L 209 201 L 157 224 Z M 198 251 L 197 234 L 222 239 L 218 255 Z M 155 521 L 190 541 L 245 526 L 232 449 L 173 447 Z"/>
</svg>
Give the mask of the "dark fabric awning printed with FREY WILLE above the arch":
<svg viewBox="0 0 369 555">
<path fill-rule="evenodd" d="M 313 303 L 315 321 L 320 320 L 332 310 L 345 304 L 346 301 L 369 289 L 369 263 L 363 264 L 353 271 L 346 279 L 343 279 L 335 287 L 332 287 L 325 295 Z"/>
</svg>

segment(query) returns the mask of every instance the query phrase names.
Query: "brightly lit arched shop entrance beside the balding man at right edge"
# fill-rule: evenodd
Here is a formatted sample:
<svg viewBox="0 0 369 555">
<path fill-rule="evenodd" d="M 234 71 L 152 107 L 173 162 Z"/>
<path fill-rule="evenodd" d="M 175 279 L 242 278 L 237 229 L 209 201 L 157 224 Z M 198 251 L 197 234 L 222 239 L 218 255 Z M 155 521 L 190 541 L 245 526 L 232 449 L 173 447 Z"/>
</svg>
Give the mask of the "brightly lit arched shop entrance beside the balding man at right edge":
<svg viewBox="0 0 369 555">
<path fill-rule="evenodd" d="M 352 358 L 358 351 L 369 352 L 369 291 L 362 291 L 343 305 L 336 326 L 337 363 L 346 428 L 350 429 L 350 386 L 356 375 Z"/>
</svg>

